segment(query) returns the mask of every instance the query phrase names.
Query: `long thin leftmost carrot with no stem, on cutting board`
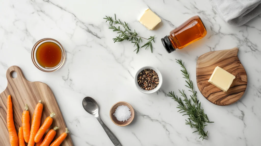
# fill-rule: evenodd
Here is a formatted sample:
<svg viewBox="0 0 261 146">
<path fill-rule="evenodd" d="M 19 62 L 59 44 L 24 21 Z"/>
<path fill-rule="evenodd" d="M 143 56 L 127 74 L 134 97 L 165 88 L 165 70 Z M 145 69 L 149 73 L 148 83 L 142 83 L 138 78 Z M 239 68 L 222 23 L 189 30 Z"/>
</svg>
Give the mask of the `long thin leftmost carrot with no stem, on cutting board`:
<svg viewBox="0 0 261 146">
<path fill-rule="evenodd" d="M 11 95 L 7 97 L 7 128 L 9 132 L 9 139 L 11 146 L 18 145 L 18 136 L 15 130 L 14 118 L 13 118 L 13 104 Z"/>
</svg>

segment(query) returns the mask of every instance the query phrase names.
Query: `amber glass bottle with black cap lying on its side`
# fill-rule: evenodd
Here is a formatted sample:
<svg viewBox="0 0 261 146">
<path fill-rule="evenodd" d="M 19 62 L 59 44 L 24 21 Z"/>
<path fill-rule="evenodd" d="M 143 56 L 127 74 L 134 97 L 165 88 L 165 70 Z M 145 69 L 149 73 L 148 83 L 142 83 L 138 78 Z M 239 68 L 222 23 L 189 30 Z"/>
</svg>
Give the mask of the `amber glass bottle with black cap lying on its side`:
<svg viewBox="0 0 261 146">
<path fill-rule="evenodd" d="M 168 53 L 182 49 L 189 44 L 202 39 L 207 34 L 206 27 L 199 16 L 193 16 L 179 27 L 170 31 L 169 36 L 161 39 Z"/>
</svg>

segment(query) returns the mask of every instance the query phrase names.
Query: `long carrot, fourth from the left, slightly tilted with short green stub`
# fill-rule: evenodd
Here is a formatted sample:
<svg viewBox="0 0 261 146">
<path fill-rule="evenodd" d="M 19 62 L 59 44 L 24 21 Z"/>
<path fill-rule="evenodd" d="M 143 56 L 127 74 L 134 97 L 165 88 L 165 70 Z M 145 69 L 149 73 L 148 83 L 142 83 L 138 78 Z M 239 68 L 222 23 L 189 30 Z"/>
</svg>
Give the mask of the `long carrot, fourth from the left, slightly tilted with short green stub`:
<svg viewBox="0 0 261 146">
<path fill-rule="evenodd" d="M 42 104 L 42 100 L 40 100 L 34 109 L 33 118 L 32 118 L 32 126 L 31 126 L 31 131 L 30 131 L 30 138 L 29 138 L 27 146 L 34 146 L 34 144 L 35 144 L 34 137 L 40 127 L 42 112 L 43 112 L 43 104 Z"/>
</svg>

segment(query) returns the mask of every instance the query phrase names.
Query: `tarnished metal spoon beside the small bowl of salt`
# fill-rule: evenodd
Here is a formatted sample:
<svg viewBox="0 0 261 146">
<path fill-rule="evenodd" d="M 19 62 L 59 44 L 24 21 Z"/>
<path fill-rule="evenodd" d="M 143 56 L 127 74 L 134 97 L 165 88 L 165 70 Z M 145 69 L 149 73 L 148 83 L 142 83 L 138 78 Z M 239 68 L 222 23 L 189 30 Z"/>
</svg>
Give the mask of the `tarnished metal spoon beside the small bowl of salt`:
<svg viewBox="0 0 261 146">
<path fill-rule="evenodd" d="M 115 146 L 122 146 L 120 141 L 117 139 L 117 137 L 111 132 L 111 130 L 103 123 L 102 119 L 100 118 L 99 106 L 97 102 L 91 97 L 85 97 L 82 100 L 82 106 L 86 110 L 86 112 L 93 115 L 99 121 L 99 123 L 102 125 L 102 128 L 105 130 L 106 134 L 111 139 L 111 142 Z"/>
</svg>

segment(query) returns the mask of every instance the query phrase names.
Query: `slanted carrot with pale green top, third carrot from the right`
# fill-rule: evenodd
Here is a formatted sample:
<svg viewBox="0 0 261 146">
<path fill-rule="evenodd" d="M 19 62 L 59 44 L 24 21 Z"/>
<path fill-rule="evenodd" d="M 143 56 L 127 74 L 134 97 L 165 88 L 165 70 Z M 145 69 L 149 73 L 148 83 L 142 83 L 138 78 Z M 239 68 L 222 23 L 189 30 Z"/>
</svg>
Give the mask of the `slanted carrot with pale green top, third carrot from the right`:
<svg viewBox="0 0 261 146">
<path fill-rule="evenodd" d="M 40 129 L 38 130 L 37 134 L 34 137 L 34 142 L 39 142 L 40 139 L 43 137 L 44 133 L 46 132 L 46 130 L 52 125 L 52 121 L 53 121 L 53 117 L 55 116 L 54 112 L 51 112 L 50 116 L 47 117 L 44 120 L 43 125 L 40 127 Z"/>
</svg>

